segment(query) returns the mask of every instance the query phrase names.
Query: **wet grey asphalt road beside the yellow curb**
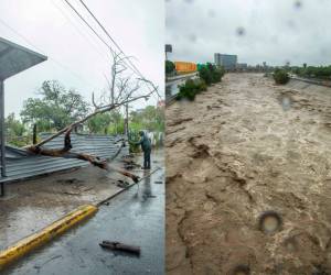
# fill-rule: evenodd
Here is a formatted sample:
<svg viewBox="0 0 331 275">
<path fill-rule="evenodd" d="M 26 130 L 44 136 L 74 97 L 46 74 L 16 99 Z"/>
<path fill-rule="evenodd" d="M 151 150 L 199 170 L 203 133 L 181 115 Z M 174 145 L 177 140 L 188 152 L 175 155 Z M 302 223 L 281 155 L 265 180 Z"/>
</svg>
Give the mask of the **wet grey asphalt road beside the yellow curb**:
<svg viewBox="0 0 331 275">
<path fill-rule="evenodd" d="M 164 274 L 164 169 L 157 165 L 161 168 L 103 205 L 94 218 L 1 274 Z M 140 256 L 104 250 L 103 240 L 139 245 Z"/>
</svg>

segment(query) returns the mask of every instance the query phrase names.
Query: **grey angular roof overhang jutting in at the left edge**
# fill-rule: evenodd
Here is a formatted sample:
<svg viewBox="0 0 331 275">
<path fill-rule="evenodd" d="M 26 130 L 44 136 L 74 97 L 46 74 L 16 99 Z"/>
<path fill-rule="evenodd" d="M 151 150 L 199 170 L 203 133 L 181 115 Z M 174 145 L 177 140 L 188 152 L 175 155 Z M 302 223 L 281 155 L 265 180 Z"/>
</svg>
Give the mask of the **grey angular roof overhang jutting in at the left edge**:
<svg viewBox="0 0 331 275">
<path fill-rule="evenodd" d="M 21 73 L 47 57 L 0 37 L 0 80 Z"/>
</svg>

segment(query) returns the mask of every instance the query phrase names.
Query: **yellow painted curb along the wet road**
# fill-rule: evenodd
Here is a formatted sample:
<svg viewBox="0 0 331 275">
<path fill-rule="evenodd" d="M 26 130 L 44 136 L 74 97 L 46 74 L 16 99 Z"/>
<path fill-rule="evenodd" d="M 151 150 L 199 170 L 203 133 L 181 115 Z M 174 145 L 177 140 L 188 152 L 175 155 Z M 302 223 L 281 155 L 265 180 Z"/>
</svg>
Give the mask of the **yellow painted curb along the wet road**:
<svg viewBox="0 0 331 275">
<path fill-rule="evenodd" d="M 92 217 L 97 212 L 97 207 L 95 206 L 82 206 L 74 211 L 67 213 L 62 219 L 53 222 L 52 224 L 45 227 L 38 233 L 29 235 L 23 240 L 19 241 L 13 246 L 8 248 L 0 252 L 0 270 L 14 260 L 25 255 L 32 250 L 41 246 L 47 241 L 56 238 L 57 235 L 64 233 L 66 230 L 77 224 L 78 222 Z"/>
</svg>

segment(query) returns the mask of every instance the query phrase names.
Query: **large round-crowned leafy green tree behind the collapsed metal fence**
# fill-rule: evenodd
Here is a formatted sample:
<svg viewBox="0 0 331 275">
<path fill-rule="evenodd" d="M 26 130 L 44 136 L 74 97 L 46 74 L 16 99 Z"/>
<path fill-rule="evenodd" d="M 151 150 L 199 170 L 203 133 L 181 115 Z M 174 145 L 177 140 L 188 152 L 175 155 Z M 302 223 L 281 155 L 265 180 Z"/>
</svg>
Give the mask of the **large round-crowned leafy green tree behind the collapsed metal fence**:
<svg viewBox="0 0 331 275">
<path fill-rule="evenodd" d="M 41 98 L 25 100 L 23 122 L 36 123 L 39 131 L 61 130 L 84 118 L 88 103 L 75 90 L 66 90 L 58 81 L 47 80 L 40 89 Z"/>
</svg>

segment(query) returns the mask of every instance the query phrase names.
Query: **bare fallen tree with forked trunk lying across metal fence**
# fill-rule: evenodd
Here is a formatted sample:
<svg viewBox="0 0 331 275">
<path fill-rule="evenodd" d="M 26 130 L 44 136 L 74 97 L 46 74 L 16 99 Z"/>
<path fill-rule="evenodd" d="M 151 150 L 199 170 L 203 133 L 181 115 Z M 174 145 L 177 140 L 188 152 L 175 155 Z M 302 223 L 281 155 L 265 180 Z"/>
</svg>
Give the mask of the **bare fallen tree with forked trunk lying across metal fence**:
<svg viewBox="0 0 331 275">
<path fill-rule="evenodd" d="M 107 160 L 103 160 L 98 156 L 93 156 L 86 153 L 74 153 L 71 152 L 73 148 L 72 142 L 71 142 L 71 132 L 73 129 L 75 129 L 77 125 L 83 124 L 90 118 L 109 112 L 111 110 L 115 110 L 117 108 L 120 108 L 122 106 L 126 106 L 130 102 L 137 101 L 139 99 L 149 99 L 149 97 L 153 92 L 158 92 L 158 87 L 156 87 L 150 80 L 147 80 L 145 78 L 135 78 L 132 85 L 132 76 L 126 76 L 122 77 L 122 74 L 127 69 L 125 65 L 125 59 L 128 57 L 121 57 L 120 54 L 113 53 L 114 63 L 111 66 L 111 80 L 108 81 L 108 88 L 109 88 L 109 96 L 107 97 L 106 94 L 102 95 L 99 103 L 96 103 L 94 94 L 92 95 L 92 102 L 95 108 L 95 110 L 86 116 L 85 118 L 63 128 L 62 130 L 57 131 L 56 133 L 50 135 L 49 138 L 42 140 L 41 142 L 25 146 L 24 148 L 29 151 L 32 154 L 36 155 L 44 155 L 44 156 L 52 156 L 52 157 L 64 157 L 64 158 L 76 158 L 81 161 L 86 161 L 93 164 L 94 166 L 97 166 L 102 169 L 106 170 L 113 170 L 117 172 L 126 177 L 130 177 L 135 183 L 139 180 L 139 177 L 134 175 L 132 173 L 129 173 L 124 169 L 119 169 L 117 167 L 114 167 L 110 165 Z M 150 89 L 148 92 L 145 92 L 145 95 L 135 95 L 136 91 L 138 91 L 141 87 L 141 84 L 149 84 L 152 86 L 152 89 Z M 47 148 L 44 145 L 54 140 L 55 138 L 64 134 L 64 146 L 62 148 Z"/>
</svg>

